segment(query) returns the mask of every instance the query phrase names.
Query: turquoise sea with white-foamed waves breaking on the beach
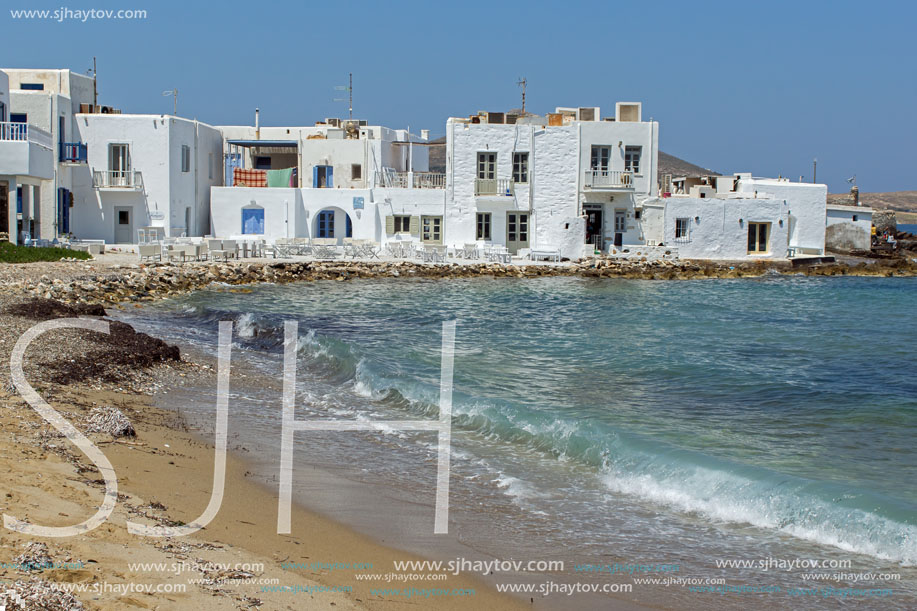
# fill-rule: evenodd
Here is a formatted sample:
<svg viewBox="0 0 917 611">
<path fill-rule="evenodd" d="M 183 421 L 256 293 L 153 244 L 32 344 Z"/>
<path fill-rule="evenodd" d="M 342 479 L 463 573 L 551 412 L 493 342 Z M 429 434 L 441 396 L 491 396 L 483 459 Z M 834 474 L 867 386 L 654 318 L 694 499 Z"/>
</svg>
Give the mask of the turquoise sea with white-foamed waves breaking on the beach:
<svg viewBox="0 0 917 611">
<path fill-rule="evenodd" d="M 236 323 L 233 362 L 249 373 L 234 369 L 231 439 L 266 481 L 285 320 L 301 334 L 297 417 L 349 420 L 435 419 L 441 324 L 455 320 L 450 532 L 461 545 L 564 559 L 557 579 L 581 580 L 570 568 L 601 559 L 677 563 L 681 577 L 783 592 L 812 587 L 806 571 L 718 564 L 847 562 L 846 573 L 899 578 L 817 587 L 888 587 L 857 605 L 917 607 L 917 279 L 329 281 L 215 287 L 116 317 L 209 355 L 218 321 Z M 163 400 L 206 423 L 212 394 Z M 434 434 L 298 433 L 296 453 L 346 481 L 341 495 L 372 490 L 419 517 L 406 526 L 352 499 L 339 511 L 305 473 L 300 501 L 429 546 Z M 850 603 L 643 592 L 674 608 Z"/>
</svg>

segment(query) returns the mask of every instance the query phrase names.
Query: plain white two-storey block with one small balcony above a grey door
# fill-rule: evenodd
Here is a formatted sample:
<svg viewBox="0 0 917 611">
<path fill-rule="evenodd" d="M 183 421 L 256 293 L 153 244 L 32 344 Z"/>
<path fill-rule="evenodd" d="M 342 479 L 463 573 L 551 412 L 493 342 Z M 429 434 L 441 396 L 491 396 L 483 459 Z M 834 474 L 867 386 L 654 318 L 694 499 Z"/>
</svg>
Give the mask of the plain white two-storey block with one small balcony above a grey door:
<svg viewBox="0 0 917 611">
<path fill-rule="evenodd" d="M 219 130 L 171 115 L 100 113 L 76 115 L 74 127 L 87 152 L 72 177 L 76 237 L 136 244 L 210 233 L 211 187 L 223 184 Z"/>
</svg>

